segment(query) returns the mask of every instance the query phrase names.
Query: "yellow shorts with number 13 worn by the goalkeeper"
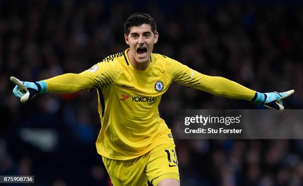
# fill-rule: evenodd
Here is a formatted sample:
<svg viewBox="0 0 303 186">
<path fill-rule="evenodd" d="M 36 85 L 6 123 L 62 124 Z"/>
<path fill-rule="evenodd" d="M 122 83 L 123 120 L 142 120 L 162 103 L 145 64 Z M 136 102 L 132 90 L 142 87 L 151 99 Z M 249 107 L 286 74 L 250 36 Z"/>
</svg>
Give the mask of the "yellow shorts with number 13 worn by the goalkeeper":
<svg viewBox="0 0 303 186">
<path fill-rule="evenodd" d="M 167 178 L 180 181 L 174 144 L 161 144 L 131 159 L 114 160 L 102 156 L 113 186 L 157 186 Z"/>
</svg>

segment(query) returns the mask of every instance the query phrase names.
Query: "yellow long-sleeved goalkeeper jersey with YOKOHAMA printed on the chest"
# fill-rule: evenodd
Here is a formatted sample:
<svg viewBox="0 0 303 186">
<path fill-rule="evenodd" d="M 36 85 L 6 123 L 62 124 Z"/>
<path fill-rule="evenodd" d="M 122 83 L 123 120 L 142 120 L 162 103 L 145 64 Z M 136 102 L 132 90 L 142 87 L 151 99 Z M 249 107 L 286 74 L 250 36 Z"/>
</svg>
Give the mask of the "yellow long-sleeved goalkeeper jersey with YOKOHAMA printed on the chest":
<svg viewBox="0 0 303 186">
<path fill-rule="evenodd" d="M 71 93 L 84 88 L 98 90 L 101 131 L 98 153 L 127 160 L 162 143 L 174 143 L 160 118 L 161 96 L 172 83 L 215 95 L 252 100 L 254 91 L 221 77 L 203 75 L 161 54 L 152 53 L 146 70 L 135 69 L 124 52 L 106 57 L 80 74 L 64 74 L 45 80 L 48 92 Z"/>
</svg>

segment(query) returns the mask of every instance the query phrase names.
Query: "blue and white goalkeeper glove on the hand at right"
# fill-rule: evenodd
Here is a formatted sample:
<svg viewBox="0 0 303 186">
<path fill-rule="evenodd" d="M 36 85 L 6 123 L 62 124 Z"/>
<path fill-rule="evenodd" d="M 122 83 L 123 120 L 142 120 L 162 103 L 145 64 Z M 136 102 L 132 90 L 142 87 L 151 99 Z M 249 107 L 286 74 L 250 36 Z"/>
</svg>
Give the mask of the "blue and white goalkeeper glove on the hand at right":
<svg viewBox="0 0 303 186">
<path fill-rule="evenodd" d="M 258 92 L 255 92 L 255 95 L 254 95 L 252 101 L 256 104 L 266 106 L 269 109 L 275 109 L 275 110 L 282 111 L 282 110 L 284 110 L 282 99 L 290 96 L 294 92 L 295 92 L 294 90 L 290 90 L 290 91 L 283 92 L 283 93 L 277 93 L 277 92 L 258 93 Z"/>
</svg>

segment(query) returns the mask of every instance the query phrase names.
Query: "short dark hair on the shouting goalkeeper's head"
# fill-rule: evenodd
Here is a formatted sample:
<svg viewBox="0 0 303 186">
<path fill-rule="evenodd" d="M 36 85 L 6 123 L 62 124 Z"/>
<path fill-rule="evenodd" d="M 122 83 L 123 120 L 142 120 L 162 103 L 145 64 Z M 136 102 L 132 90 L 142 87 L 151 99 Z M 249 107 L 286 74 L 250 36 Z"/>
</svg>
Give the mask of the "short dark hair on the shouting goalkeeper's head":
<svg viewBox="0 0 303 186">
<path fill-rule="evenodd" d="M 153 18 L 147 13 L 134 13 L 129 16 L 124 24 L 124 33 L 129 35 L 130 28 L 133 26 L 141 26 L 143 24 L 151 25 L 152 32 L 155 34 L 157 32 L 157 25 L 155 24 Z"/>
</svg>

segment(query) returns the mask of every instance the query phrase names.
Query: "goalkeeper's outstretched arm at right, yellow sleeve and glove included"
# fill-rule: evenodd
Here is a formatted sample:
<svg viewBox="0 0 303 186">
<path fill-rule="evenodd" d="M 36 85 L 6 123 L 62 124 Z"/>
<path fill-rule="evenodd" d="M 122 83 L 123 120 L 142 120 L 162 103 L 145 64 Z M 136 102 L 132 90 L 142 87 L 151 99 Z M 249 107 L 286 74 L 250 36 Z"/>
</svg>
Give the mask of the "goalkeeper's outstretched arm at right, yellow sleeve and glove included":
<svg viewBox="0 0 303 186">
<path fill-rule="evenodd" d="M 283 110 L 282 99 L 295 92 L 291 90 L 283 93 L 258 93 L 226 78 L 201 74 L 172 59 L 169 59 L 168 67 L 167 69 L 172 69 L 172 83 L 221 97 L 252 101 L 255 104 L 264 105 L 270 109 Z"/>
</svg>

